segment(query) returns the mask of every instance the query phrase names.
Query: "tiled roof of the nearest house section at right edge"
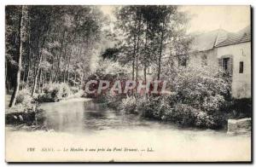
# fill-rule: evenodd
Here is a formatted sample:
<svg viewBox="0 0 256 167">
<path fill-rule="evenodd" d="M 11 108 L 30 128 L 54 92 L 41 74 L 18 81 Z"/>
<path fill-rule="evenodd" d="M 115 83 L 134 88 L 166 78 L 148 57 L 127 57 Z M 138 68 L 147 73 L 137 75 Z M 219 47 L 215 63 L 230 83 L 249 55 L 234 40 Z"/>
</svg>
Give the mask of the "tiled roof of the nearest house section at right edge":
<svg viewBox="0 0 256 167">
<path fill-rule="evenodd" d="M 236 43 L 246 43 L 249 41 L 251 41 L 251 27 L 247 26 L 239 32 L 228 33 L 227 38 L 223 42 L 218 43 L 216 47 L 222 47 Z"/>
</svg>

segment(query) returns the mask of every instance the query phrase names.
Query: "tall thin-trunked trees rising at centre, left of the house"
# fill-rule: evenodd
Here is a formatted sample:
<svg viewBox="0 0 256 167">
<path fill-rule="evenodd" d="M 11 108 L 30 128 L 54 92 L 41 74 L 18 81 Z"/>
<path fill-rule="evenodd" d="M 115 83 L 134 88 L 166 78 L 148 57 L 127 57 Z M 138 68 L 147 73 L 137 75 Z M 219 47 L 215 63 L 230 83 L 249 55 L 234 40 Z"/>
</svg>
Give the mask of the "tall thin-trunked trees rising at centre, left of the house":
<svg viewBox="0 0 256 167">
<path fill-rule="evenodd" d="M 169 45 L 175 43 L 177 33 L 185 29 L 186 14 L 177 6 L 124 6 L 116 11 L 120 48 L 127 62 L 132 62 L 132 79 L 138 78 L 143 66 L 144 80 L 149 66 L 157 66 L 160 79 L 161 59 Z M 185 34 L 179 33 L 181 37 Z M 120 57 L 124 60 L 124 58 Z M 136 71 L 136 74 L 134 73 Z"/>
</svg>

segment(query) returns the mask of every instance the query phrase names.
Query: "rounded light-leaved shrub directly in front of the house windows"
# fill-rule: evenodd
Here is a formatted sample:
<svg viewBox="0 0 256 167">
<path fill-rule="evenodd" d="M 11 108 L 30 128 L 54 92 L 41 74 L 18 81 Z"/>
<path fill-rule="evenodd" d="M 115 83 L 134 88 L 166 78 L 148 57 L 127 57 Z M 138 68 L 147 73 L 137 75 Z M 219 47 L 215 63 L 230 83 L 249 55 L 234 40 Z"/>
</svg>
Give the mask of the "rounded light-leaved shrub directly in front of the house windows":
<svg viewBox="0 0 256 167">
<path fill-rule="evenodd" d="M 204 112 L 220 110 L 230 91 L 230 83 L 219 77 L 218 70 L 207 67 L 177 70 L 172 87 L 181 103 Z"/>
</svg>

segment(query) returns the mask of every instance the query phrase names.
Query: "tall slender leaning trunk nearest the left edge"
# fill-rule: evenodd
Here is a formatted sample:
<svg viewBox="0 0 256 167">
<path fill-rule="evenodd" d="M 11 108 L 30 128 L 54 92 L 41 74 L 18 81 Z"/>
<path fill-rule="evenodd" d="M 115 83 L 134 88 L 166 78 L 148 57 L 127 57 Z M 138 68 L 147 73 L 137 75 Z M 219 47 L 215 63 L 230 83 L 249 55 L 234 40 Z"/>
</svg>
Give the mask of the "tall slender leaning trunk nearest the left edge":
<svg viewBox="0 0 256 167">
<path fill-rule="evenodd" d="M 14 107 L 15 106 L 15 102 L 17 99 L 17 95 L 19 93 L 19 89 L 20 89 L 20 72 L 21 72 L 21 68 L 22 68 L 22 50 L 23 50 L 23 42 L 25 41 L 25 32 L 26 32 L 26 24 L 25 24 L 25 20 L 26 20 L 26 14 L 27 14 L 27 6 L 22 6 L 21 7 L 21 14 L 20 14 L 20 49 L 19 49 L 19 54 L 18 54 L 18 69 L 17 69 L 17 73 L 16 73 L 16 83 L 15 83 L 15 89 L 13 92 L 13 95 L 11 97 L 11 100 L 9 102 L 9 107 Z"/>
</svg>

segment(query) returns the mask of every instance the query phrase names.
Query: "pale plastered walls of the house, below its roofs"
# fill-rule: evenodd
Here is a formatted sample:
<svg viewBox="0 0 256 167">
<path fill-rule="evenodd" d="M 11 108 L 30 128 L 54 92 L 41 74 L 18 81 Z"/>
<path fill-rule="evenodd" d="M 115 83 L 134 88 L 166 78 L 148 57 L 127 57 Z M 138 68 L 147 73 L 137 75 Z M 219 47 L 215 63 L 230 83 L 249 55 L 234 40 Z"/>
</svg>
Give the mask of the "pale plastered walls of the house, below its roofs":
<svg viewBox="0 0 256 167">
<path fill-rule="evenodd" d="M 243 54 L 241 52 L 243 49 Z M 233 57 L 232 96 L 236 99 L 251 97 L 251 43 L 237 43 L 229 46 L 195 52 L 189 55 L 188 66 L 201 66 L 201 56 L 207 55 L 207 66 L 218 66 L 218 59 L 224 55 Z M 243 61 L 243 73 L 239 63 Z M 177 62 L 175 62 L 177 64 Z M 150 76 L 150 75 L 149 75 Z M 147 76 L 152 78 L 152 76 Z"/>
</svg>

